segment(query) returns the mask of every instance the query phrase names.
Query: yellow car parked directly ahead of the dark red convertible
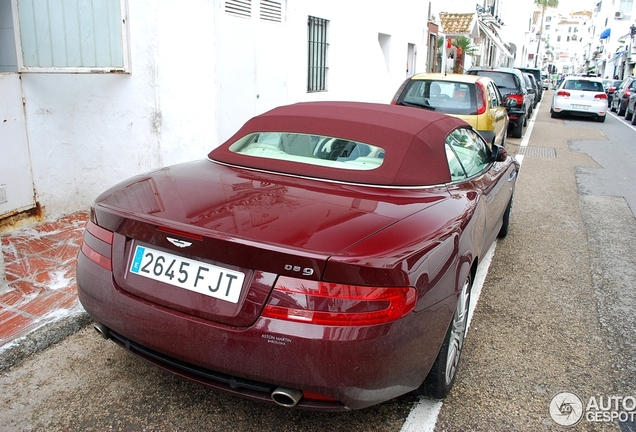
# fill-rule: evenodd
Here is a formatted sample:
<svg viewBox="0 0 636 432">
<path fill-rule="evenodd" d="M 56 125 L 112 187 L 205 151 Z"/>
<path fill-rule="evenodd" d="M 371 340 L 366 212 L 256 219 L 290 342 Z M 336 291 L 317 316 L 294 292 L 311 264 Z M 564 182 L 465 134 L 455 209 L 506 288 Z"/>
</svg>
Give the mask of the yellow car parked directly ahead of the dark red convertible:
<svg viewBox="0 0 636 432">
<path fill-rule="evenodd" d="M 508 112 L 497 85 L 488 77 L 417 74 L 404 81 L 391 103 L 459 117 L 488 143 L 506 144 Z"/>
</svg>

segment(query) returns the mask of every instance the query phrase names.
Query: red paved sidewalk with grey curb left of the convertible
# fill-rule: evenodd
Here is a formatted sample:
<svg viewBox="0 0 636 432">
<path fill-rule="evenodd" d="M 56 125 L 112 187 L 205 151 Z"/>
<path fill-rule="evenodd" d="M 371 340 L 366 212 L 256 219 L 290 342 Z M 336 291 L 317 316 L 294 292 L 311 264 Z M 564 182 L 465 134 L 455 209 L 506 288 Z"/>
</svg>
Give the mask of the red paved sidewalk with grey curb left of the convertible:
<svg viewBox="0 0 636 432">
<path fill-rule="evenodd" d="M 87 219 L 88 213 L 79 212 L 2 234 L 0 370 L 90 321 L 75 283 Z"/>
</svg>

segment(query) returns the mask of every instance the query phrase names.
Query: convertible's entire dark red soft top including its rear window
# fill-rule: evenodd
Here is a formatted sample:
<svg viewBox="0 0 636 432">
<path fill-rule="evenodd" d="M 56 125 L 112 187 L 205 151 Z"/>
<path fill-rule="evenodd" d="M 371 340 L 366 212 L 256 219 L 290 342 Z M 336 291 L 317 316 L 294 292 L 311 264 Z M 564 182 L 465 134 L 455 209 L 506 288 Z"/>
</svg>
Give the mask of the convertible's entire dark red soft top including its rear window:
<svg viewBox="0 0 636 432">
<path fill-rule="evenodd" d="M 468 124 L 425 109 L 303 102 L 251 118 L 208 157 L 216 163 L 329 181 L 433 186 L 450 181 L 444 140 L 461 127 Z"/>
</svg>

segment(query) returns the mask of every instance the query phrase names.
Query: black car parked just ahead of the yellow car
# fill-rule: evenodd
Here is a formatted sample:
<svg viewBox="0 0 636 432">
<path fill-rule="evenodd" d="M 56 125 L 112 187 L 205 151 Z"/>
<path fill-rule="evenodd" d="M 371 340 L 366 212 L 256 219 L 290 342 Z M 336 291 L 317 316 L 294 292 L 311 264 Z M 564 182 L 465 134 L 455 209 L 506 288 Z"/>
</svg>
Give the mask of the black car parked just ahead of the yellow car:
<svg viewBox="0 0 636 432">
<path fill-rule="evenodd" d="M 528 115 L 532 110 L 532 100 L 526 90 L 526 80 L 519 69 L 514 68 L 471 68 L 470 75 L 487 76 L 492 79 L 504 99 L 510 120 L 509 127 L 513 137 L 523 136 L 523 127 L 528 124 Z"/>
</svg>

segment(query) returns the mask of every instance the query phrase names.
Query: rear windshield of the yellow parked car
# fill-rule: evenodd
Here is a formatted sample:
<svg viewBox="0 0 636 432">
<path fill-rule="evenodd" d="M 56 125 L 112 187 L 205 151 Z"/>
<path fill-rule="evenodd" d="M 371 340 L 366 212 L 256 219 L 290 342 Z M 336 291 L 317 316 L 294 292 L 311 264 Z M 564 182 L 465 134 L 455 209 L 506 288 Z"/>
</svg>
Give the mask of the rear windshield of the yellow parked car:
<svg viewBox="0 0 636 432">
<path fill-rule="evenodd" d="M 399 100 L 445 114 L 477 114 L 475 85 L 453 81 L 412 80 Z"/>
</svg>

